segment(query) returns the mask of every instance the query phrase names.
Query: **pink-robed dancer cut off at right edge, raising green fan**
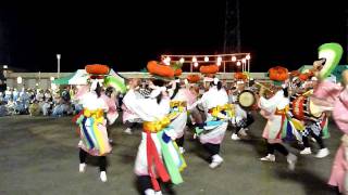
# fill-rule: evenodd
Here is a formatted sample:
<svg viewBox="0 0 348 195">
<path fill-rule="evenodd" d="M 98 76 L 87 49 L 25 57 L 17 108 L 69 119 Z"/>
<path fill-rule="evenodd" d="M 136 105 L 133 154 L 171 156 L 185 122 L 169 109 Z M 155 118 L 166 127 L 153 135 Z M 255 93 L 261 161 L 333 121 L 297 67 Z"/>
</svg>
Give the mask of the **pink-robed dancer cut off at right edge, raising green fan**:
<svg viewBox="0 0 348 195">
<path fill-rule="evenodd" d="M 328 184 L 336 186 L 339 193 L 348 194 L 348 70 L 343 73 L 343 84 L 325 79 L 338 65 L 341 55 L 343 48 L 338 43 L 325 43 L 319 48 L 322 67 L 318 74 L 320 82 L 314 90 L 313 102 L 323 110 L 332 110 L 338 129 L 345 133 L 335 156 Z"/>
</svg>

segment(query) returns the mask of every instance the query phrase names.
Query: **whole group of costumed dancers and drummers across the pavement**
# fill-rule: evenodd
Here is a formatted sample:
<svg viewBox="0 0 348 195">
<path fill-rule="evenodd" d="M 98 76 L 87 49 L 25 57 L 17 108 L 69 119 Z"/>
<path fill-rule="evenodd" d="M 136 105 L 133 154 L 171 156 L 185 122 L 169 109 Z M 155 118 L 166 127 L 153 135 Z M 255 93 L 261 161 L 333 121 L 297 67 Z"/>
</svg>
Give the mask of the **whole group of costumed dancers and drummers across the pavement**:
<svg viewBox="0 0 348 195">
<path fill-rule="evenodd" d="M 328 44 L 328 49 L 336 47 L 335 43 Z M 227 93 L 222 80 L 210 74 L 210 77 L 204 77 L 203 84 L 207 88 L 200 95 L 197 83 L 191 83 L 189 79 L 169 79 L 167 74 L 161 72 L 161 67 L 165 67 L 161 64 L 158 64 L 156 72 L 150 70 L 156 77 L 148 79 L 146 84 L 141 84 L 138 79 L 130 79 L 129 89 L 123 98 L 123 119 L 130 126 L 134 122 L 142 125 L 134 168 L 141 192 L 147 195 L 161 194 L 159 182 L 183 182 L 181 171 L 186 168 L 183 156 L 184 134 L 188 126 L 195 129 L 195 136 L 210 154 L 209 167 L 219 167 L 224 160 L 220 147 L 228 123 L 235 127 L 232 140 L 239 140 L 240 135 L 246 135 L 248 126 L 253 121 L 250 112 L 239 103 L 245 90 L 254 91 L 253 107 L 268 120 L 262 133 L 266 140 L 266 154 L 261 160 L 274 162 L 274 152 L 278 151 L 286 157 L 289 169 L 294 170 L 297 156 L 283 145 L 283 141 L 297 140 L 304 146 L 300 154 L 308 155 L 312 153 L 309 136 L 320 147 L 315 157 L 327 156 L 330 152 L 323 142 L 323 138 L 328 135 L 327 113 L 332 112 L 338 128 L 348 132 L 348 119 L 344 117 L 348 114 L 348 72 L 343 74 L 343 84 L 328 81 L 325 79 L 327 72 L 332 72 L 331 66 L 339 62 L 332 58 L 339 55 L 322 57 L 321 54 L 321 58 L 314 62 L 313 68 L 304 76 L 277 66 L 269 72 L 273 84 L 254 82 L 250 86 L 247 80 L 238 80 L 232 93 Z M 107 75 L 108 70 L 100 69 L 108 67 L 89 66 L 95 66 L 88 68 L 90 86 L 80 88 L 75 95 L 84 107 L 75 117 L 80 129 L 79 171 L 85 171 L 88 154 L 97 156 L 100 179 L 105 182 L 107 155 L 111 152 L 107 126 L 115 121 L 117 109 L 112 99 L 102 91 L 102 75 Z M 348 188 L 345 186 L 347 138 L 343 136 L 343 145 L 337 152 L 330 179 L 330 184 L 338 186 L 341 193 Z"/>
</svg>

